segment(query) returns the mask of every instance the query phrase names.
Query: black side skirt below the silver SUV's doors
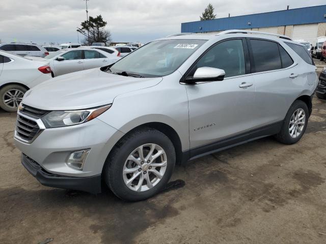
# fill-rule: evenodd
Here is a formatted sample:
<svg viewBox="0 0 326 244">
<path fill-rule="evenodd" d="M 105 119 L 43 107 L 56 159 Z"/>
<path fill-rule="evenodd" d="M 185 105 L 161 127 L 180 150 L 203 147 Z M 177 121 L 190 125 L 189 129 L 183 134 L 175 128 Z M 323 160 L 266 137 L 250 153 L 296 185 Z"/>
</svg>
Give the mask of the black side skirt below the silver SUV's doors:
<svg viewBox="0 0 326 244">
<path fill-rule="evenodd" d="M 281 131 L 282 125 L 283 120 L 258 129 L 241 133 L 236 136 L 232 136 L 203 146 L 195 147 L 187 151 L 183 151 L 182 163 L 185 163 L 188 160 L 193 160 L 205 155 L 216 153 L 218 151 L 222 151 L 234 146 L 238 146 L 250 141 L 254 141 L 266 136 L 275 135 Z"/>
</svg>

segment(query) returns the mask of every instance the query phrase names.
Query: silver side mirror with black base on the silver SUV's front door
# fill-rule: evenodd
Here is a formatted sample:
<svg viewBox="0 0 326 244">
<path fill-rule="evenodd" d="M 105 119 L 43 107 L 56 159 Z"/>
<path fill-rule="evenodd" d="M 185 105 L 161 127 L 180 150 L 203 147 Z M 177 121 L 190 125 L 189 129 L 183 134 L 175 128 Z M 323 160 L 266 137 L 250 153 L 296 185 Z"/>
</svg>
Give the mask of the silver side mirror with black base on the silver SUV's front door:
<svg viewBox="0 0 326 244">
<path fill-rule="evenodd" d="M 193 81 L 221 81 L 224 80 L 224 76 L 224 70 L 212 67 L 201 67 L 196 70 Z"/>
</svg>

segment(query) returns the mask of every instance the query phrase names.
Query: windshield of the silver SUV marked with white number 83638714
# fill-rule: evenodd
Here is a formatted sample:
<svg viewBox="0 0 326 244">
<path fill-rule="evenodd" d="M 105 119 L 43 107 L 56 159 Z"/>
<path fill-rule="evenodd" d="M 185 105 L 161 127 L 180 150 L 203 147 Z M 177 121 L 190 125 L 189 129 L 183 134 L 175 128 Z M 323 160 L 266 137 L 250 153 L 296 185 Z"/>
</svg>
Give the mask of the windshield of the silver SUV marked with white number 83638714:
<svg viewBox="0 0 326 244">
<path fill-rule="evenodd" d="M 107 72 L 161 77 L 176 71 L 207 40 L 153 41 L 120 59 Z"/>
</svg>

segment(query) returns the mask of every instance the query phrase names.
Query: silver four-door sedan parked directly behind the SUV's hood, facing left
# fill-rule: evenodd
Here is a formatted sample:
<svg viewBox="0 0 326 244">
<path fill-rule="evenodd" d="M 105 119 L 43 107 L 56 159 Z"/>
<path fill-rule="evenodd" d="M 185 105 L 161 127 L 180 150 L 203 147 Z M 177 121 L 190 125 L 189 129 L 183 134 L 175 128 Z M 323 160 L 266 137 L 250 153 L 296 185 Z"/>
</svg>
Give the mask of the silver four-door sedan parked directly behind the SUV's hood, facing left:
<svg viewBox="0 0 326 244">
<path fill-rule="evenodd" d="M 34 60 L 40 58 L 29 57 Z M 91 48 L 60 49 L 45 57 L 48 60 L 52 77 L 76 71 L 107 66 L 117 61 L 117 57 L 102 50 Z"/>
</svg>

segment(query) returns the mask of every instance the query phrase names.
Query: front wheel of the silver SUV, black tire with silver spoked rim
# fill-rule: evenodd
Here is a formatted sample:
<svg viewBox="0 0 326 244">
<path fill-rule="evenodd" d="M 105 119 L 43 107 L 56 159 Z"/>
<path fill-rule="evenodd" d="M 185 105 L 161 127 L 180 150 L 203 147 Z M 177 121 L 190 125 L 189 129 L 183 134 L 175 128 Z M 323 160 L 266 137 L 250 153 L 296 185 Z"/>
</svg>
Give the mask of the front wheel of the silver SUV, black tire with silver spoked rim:
<svg viewBox="0 0 326 244">
<path fill-rule="evenodd" d="M 114 147 L 104 166 L 104 178 L 117 197 L 145 200 L 166 187 L 175 158 L 174 146 L 165 134 L 142 128 Z"/>
</svg>

